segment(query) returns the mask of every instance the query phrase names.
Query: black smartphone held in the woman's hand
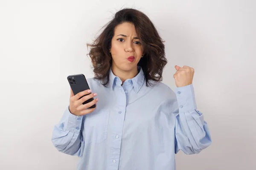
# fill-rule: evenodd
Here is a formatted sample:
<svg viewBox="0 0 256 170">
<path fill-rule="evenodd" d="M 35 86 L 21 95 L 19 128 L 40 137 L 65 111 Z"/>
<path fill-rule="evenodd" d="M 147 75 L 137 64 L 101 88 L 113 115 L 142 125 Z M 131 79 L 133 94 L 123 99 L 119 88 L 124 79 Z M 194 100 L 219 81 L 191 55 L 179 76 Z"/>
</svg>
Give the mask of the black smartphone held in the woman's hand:
<svg viewBox="0 0 256 170">
<path fill-rule="evenodd" d="M 70 84 L 70 87 L 71 87 L 74 95 L 78 94 L 81 91 L 85 91 L 85 90 L 89 90 L 90 89 L 84 74 L 69 75 L 67 77 L 67 80 L 68 80 L 68 82 Z M 86 94 L 86 95 L 88 95 L 88 94 Z M 84 96 L 86 96 L 86 95 L 84 95 Z M 83 96 L 81 96 L 79 99 L 81 99 L 82 97 Z M 87 101 L 83 102 L 83 105 L 88 103 L 88 102 L 93 101 L 93 99 L 94 98 L 88 99 Z M 95 107 L 96 107 L 96 105 L 94 104 L 90 108 L 95 108 Z"/>
</svg>

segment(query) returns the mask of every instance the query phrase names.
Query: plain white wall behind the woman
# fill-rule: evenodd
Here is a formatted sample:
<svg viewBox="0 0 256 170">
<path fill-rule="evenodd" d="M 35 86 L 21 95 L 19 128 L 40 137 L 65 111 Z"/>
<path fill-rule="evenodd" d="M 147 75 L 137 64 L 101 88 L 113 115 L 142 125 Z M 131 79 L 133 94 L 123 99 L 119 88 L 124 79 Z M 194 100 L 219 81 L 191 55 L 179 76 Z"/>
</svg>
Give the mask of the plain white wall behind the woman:
<svg viewBox="0 0 256 170">
<path fill-rule="evenodd" d="M 0 0 L 0 169 L 75 170 L 52 128 L 69 104 L 67 75 L 92 77 L 85 44 L 121 7 L 145 12 L 166 40 L 163 79 L 195 68 L 212 145 L 177 154 L 177 170 L 256 168 L 256 1 Z"/>
</svg>

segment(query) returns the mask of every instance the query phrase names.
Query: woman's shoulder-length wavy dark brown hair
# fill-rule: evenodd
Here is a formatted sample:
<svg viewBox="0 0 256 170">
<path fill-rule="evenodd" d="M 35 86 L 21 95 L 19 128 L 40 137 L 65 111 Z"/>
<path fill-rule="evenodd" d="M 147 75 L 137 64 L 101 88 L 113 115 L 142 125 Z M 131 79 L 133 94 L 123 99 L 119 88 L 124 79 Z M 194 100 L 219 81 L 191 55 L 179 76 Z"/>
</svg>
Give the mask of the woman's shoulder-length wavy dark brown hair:
<svg viewBox="0 0 256 170">
<path fill-rule="evenodd" d="M 144 56 L 138 65 L 145 74 L 146 86 L 153 85 L 150 80 L 162 81 L 163 68 L 167 64 L 165 48 L 162 38 L 151 20 L 141 11 L 133 8 L 124 8 L 114 15 L 113 19 L 102 27 L 103 31 L 92 44 L 89 56 L 93 64 L 93 72 L 96 79 L 102 81 L 106 87 L 109 83 L 109 71 L 112 65 L 112 57 L 109 49 L 114 36 L 114 29 L 122 23 L 133 23 L 138 37 L 140 38 Z"/>
</svg>

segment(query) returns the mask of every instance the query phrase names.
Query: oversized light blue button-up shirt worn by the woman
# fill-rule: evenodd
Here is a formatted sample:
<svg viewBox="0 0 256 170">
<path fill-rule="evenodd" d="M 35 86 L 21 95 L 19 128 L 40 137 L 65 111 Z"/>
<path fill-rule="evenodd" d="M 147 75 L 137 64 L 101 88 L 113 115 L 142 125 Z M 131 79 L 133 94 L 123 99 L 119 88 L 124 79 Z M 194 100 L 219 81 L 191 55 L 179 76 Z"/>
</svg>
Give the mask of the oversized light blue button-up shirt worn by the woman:
<svg viewBox="0 0 256 170">
<path fill-rule="evenodd" d="M 142 69 L 123 85 L 112 71 L 108 87 L 87 81 L 98 94 L 96 110 L 75 116 L 67 107 L 52 133 L 60 152 L 81 157 L 77 170 L 175 170 L 179 150 L 199 153 L 211 144 L 192 84 L 146 87 Z"/>
</svg>

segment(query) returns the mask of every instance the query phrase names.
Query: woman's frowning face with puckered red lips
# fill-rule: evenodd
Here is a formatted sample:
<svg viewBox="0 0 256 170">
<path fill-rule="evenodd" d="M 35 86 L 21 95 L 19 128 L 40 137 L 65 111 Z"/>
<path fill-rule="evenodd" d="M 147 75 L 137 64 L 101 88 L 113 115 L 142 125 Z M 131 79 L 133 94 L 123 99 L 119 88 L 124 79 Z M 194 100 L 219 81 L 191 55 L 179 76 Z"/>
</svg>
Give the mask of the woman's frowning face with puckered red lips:
<svg viewBox="0 0 256 170">
<path fill-rule="evenodd" d="M 143 46 L 137 36 L 134 24 L 122 23 L 116 26 L 111 40 L 112 68 L 119 71 L 137 70 L 143 56 Z"/>
</svg>

